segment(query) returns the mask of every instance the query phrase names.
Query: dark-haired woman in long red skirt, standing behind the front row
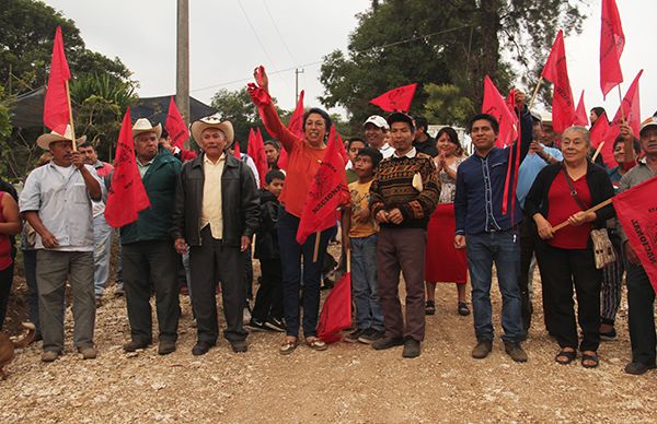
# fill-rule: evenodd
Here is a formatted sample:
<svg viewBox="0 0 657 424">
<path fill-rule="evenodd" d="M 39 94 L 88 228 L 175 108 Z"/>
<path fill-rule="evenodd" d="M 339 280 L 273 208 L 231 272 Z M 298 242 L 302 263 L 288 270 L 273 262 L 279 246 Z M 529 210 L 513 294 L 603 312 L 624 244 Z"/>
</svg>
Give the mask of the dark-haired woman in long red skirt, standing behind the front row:
<svg viewBox="0 0 657 424">
<path fill-rule="evenodd" d="M 468 279 L 468 262 L 465 250 L 454 247 L 456 215 L 454 195 L 457 192 L 457 168 L 465 160 L 463 148 L 459 143 L 457 131 L 443 127 L 436 136 L 438 155 L 434 164 L 439 173 L 440 198 L 438 207 L 427 226 L 427 252 L 425 260 L 425 280 L 427 302 L 425 313 L 436 313 L 436 283 L 457 283 L 459 294 L 459 315 L 470 315 L 465 299 L 465 282 Z"/>
</svg>

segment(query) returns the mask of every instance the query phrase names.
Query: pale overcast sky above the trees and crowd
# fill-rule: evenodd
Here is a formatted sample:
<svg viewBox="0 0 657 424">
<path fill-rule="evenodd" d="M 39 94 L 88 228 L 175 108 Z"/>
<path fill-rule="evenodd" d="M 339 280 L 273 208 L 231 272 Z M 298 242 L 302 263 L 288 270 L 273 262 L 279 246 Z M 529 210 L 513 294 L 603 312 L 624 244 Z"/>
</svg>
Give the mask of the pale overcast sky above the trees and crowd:
<svg viewBox="0 0 657 424">
<path fill-rule="evenodd" d="M 427 0 L 436 1 L 436 0 Z M 46 0 L 76 21 L 88 48 L 119 57 L 139 81 L 142 97 L 175 91 L 175 0 Z M 346 51 L 356 13 L 369 0 L 191 0 L 191 91 L 209 103 L 219 89 L 237 90 L 256 64 L 269 73 L 270 89 L 283 108 L 295 106 L 295 68 L 302 68 L 299 85 L 307 105 L 323 94 L 319 81 L 322 57 Z M 566 54 L 573 96 L 585 90 L 588 109 L 604 106 L 613 115 L 619 105 L 614 89 L 602 101 L 599 86 L 600 0 L 589 0 L 584 32 L 567 37 Z M 639 69 L 642 117 L 657 110 L 657 60 L 652 45 L 656 0 L 616 0 L 625 50 L 621 58 L 623 94 Z M 65 34 L 66 43 L 66 34 Z M 546 46 L 550 49 L 551 46 Z M 376 72 L 376 70 L 372 70 Z M 391 87 L 392 89 L 392 87 Z M 528 87 L 531 91 L 533 87 Z"/>
</svg>

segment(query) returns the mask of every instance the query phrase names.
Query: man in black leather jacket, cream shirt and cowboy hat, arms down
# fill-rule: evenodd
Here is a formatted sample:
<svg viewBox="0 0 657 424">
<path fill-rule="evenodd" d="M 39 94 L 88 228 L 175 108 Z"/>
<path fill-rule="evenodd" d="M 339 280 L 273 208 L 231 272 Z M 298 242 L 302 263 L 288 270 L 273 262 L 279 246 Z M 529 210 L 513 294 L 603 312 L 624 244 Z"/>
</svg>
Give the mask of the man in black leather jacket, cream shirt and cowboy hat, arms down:
<svg viewBox="0 0 657 424">
<path fill-rule="evenodd" d="M 186 162 L 177 180 L 172 236 L 175 249 L 189 249 L 192 303 L 198 339 L 192 350 L 203 355 L 217 343 L 215 287 L 221 281 L 226 331 L 233 352 L 246 352 L 243 327 L 244 255 L 258 225 L 255 179 L 242 161 L 227 154 L 232 123 L 218 116 L 192 125 L 203 154 Z"/>
</svg>

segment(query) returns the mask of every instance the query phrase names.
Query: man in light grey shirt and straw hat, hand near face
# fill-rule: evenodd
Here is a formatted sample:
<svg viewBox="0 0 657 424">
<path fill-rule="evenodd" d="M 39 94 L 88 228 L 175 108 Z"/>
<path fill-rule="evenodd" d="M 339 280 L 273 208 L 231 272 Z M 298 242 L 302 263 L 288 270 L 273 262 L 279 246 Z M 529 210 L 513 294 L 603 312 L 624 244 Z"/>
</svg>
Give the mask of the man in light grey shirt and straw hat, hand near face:
<svg viewBox="0 0 657 424">
<path fill-rule="evenodd" d="M 102 198 L 102 184 L 82 154 L 73 150 L 70 127 L 64 134 L 53 131 L 41 136 L 36 144 L 49 150 L 53 161 L 30 173 L 19 203 L 37 234 L 42 361 L 53 362 L 64 352 L 61 305 L 67 278 L 73 292 L 74 345 L 85 360 L 94 358 L 92 200 Z"/>
</svg>

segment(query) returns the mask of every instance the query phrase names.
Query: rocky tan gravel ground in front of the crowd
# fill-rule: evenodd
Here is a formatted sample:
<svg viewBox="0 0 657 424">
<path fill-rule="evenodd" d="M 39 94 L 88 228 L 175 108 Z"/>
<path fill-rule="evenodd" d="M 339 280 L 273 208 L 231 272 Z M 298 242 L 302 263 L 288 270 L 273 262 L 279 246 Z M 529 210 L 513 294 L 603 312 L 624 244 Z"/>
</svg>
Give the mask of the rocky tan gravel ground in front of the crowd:
<svg viewBox="0 0 657 424">
<path fill-rule="evenodd" d="M 39 361 L 41 343 L 18 352 L 0 381 L 0 422 L 655 422 L 657 372 L 623 373 L 630 358 L 626 309 L 619 315 L 619 340 L 604 342 L 601 364 L 585 369 L 554 362 L 535 284 L 534 320 L 525 348 L 527 364 L 514 363 L 499 340 L 486 360 L 470 356 L 475 342 L 472 316 L 457 314 L 453 285 L 439 285 L 438 311 L 427 317 L 422 356 L 402 358 L 401 348 L 376 352 L 345 342 L 314 352 L 301 345 L 278 354 L 280 333 L 252 333 L 249 352 L 234 354 L 226 341 L 201 357 L 191 305 L 183 317 L 177 351 L 157 348 L 126 354 L 129 337 L 124 297 L 97 311 L 100 355 L 83 361 L 71 345 L 51 364 Z M 16 288 L 20 292 L 20 287 Z M 499 295 L 495 291 L 499 328 Z M 19 302 L 20 303 L 20 302 Z M 15 304 L 15 303 L 14 303 Z M 15 308 L 14 308 L 15 309 Z M 12 321 L 20 314 L 12 316 Z"/>
</svg>

